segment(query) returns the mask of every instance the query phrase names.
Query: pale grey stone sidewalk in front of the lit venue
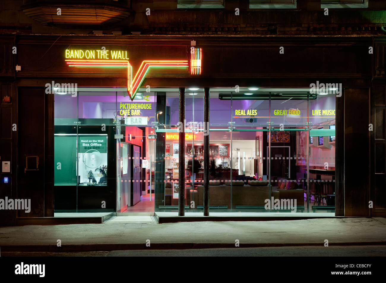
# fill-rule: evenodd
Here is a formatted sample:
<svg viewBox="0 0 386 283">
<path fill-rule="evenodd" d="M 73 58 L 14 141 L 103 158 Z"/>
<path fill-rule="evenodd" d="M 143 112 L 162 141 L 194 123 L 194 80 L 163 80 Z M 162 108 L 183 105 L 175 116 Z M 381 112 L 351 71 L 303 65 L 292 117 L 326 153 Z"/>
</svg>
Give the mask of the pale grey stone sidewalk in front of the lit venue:
<svg viewBox="0 0 386 283">
<path fill-rule="evenodd" d="M 56 244 L 61 240 L 61 247 Z M 0 251 L 112 251 L 268 246 L 385 245 L 386 219 L 71 224 L 0 227 Z M 150 247 L 146 241 L 150 240 Z"/>
</svg>

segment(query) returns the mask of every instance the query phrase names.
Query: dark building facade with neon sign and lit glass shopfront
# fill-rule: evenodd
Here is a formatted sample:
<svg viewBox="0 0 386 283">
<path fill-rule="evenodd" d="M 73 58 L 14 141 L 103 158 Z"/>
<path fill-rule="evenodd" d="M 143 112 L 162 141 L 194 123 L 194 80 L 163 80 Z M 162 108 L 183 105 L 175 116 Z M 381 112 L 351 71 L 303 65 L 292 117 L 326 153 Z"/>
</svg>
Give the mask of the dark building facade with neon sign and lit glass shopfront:
<svg viewBox="0 0 386 283">
<path fill-rule="evenodd" d="M 2 225 L 385 216 L 384 1 L 1 5 Z"/>
</svg>

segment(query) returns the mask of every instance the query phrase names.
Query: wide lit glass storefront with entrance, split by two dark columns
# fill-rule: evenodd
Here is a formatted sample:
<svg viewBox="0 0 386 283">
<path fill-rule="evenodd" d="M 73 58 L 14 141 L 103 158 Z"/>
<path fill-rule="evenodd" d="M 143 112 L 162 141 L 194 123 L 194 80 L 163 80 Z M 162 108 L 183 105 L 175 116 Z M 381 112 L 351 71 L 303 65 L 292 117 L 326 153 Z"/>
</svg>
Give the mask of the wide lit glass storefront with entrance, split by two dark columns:
<svg viewBox="0 0 386 283">
<path fill-rule="evenodd" d="M 202 88 L 186 89 L 179 164 L 178 88 L 141 88 L 133 101 L 122 88 L 55 94 L 56 211 L 177 215 L 185 168 L 185 210 L 203 213 L 208 154 L 211 212 L 334 213 L 334 95 L 211 89 L 209 129 L 203 104 Z"/>
</svg>

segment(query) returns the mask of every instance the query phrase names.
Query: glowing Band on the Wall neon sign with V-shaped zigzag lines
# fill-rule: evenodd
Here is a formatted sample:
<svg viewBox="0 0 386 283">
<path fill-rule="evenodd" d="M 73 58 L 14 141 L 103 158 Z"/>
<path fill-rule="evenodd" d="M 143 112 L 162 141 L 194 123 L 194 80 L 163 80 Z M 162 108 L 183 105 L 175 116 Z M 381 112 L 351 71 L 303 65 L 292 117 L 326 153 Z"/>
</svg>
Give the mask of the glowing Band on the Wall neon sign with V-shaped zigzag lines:
<svg viewBox="0 0 386 283">
<path fill-rule="evenodd" d="M 188 68 L 188 60 L 144 60 L 133 78 L 127 51 L 110 50 L 66 50 L 66 63 L 69 67 L 106 67 L 127 68 L 127 93 L 134 99 L 139 87 L 151 68 Z M 111 56 L 111 57 L 110 57 Z M 68 59 L 67 59 L 68 58 Z M 110 59 L 111 58 L 111 59 Z M 201 48 L 192 47 L 190 70 L 191 74 L 201 74 Z M 122 59 L 122 60 L 119 60 Z"/>
</svg>

